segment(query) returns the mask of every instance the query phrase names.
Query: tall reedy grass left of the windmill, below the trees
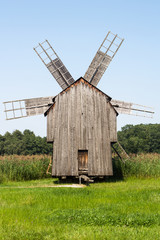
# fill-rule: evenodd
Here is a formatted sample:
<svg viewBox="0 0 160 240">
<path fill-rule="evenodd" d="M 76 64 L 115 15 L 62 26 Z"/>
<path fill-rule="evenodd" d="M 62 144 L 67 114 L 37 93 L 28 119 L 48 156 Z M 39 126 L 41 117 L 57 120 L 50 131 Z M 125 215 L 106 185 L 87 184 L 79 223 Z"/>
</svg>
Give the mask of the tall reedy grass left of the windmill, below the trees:
<svg viewBox="0 0 160 240">
<path fill-rule="evenodd" d="M 0 156 L 0 183 L 45 178 L 48 164 L 47 155 Z"/>
</svg>

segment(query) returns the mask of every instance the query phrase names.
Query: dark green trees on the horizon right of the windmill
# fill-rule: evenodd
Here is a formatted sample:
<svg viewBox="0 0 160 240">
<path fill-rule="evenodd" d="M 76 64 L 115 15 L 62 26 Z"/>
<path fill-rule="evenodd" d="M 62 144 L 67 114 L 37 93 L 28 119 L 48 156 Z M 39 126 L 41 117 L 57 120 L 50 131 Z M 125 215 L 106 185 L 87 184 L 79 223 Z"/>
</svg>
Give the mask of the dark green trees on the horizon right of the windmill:
<svg viewBox="0 0 160 240">
<path fill-rule="evenodd" d="M 126 125 L 118 141 L 127 153 L 160 153 L 160 124 Z"/>
</svg>

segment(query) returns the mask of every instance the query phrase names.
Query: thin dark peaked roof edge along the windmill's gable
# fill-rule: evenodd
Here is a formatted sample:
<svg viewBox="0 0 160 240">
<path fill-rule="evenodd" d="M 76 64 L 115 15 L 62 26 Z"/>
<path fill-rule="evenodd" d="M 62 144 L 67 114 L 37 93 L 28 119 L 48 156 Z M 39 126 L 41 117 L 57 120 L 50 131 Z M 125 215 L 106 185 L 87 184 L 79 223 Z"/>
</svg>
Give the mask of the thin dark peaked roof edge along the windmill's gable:
<svg viewBox="0 0 160 240">
<path fill-rule="evenodd" d="M 64 89 L 64 90 L 62 90 L 59 94 L 63 94 L 64 92 L 67 92 L 73 85 L 77 85 L 78 83 L 80 83 L 80 82 L 83 82 L 83 83 L 85 83 L 85 84 L 88 84 L 88 85 L 90 85 L 92 88 L 94 88 L 96 91 L 98 91 L 98 92 L 100 92 L 100 93 L 102 93 L 102 94 L 104 94 L 106 97 L 107 97 L 107 99 L 109 100 L 109 101 L 111 101 L 111 97 L 110 96 L 108 96 L 106 93 L 104 93 L 104 92 L 102 92 L 100 89 L 98 89 L 97 87 L 95 87 L 94 85 L 92 85 L 90 82 L 88 82 L 88 81 L 86 81 L 83 77 L 80 77 L 80 78 L 78 78 L 74 83 L 72 83 L 69 87 L 67 87 L 66 89 Z M 58 95 L 59 95 L 58 94 Z M 57 96 L 58 96 L 57 95 Z M 54 99 L 56 98 L 56 96 L 54 97 Z M 53 101 L 54 101 L 54 99 L 53 99 Z M 55 102 L 53 102 L 53 104 L 47 109 L 47 111 L 44 113 L 44 116 L 46 116 L 47 114 L 48 114 L 48 112 L 49 112 L 49 110 L 52 108 L 52 106 L 55 104 Z M 110 103 L 111 104 L 111 103 Z M 112 105 L 112 104 L 111 104 Z M 114 107 L 113 107 L 114 108 Z M 115 110 L 115 109 L 114 109 Z M 117 111 L 115 110 L 115 112 L 116 112 L 116 114 L 118 115 L 118 113 L 117 113 Z"/>
</svg>

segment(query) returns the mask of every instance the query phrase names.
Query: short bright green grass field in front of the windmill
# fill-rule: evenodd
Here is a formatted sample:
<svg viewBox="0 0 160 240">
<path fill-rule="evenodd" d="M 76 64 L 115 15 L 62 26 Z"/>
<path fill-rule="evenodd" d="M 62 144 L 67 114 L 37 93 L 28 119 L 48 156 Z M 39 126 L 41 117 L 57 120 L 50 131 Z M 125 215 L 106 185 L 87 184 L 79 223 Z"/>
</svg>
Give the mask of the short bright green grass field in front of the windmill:
<svg viewBox="0 0 160 240">
<path fill-rule="evenodd" d="M 160 179 L 45 187 L 54 184 L 0 185 L 1 240 L 160 239 Z"/>
</svg>

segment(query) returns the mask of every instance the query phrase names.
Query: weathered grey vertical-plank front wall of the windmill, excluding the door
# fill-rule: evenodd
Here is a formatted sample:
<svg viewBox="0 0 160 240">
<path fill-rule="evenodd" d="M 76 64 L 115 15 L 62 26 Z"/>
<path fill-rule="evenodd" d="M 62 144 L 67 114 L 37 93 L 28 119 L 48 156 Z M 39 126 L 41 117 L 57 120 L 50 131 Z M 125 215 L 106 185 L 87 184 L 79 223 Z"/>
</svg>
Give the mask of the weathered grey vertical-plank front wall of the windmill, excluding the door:
<svg viewBox="0 0 160 240">
<path fill-rule="evenodd" d="M 78 175 L 78 150 L 88 150 L 88 175 L 112 175 L 112 110 L 106 95 L 83 80 L 56 97 L 47 126 L 48 140 L 54 141 L 53 176 Z"/>
</svg>

